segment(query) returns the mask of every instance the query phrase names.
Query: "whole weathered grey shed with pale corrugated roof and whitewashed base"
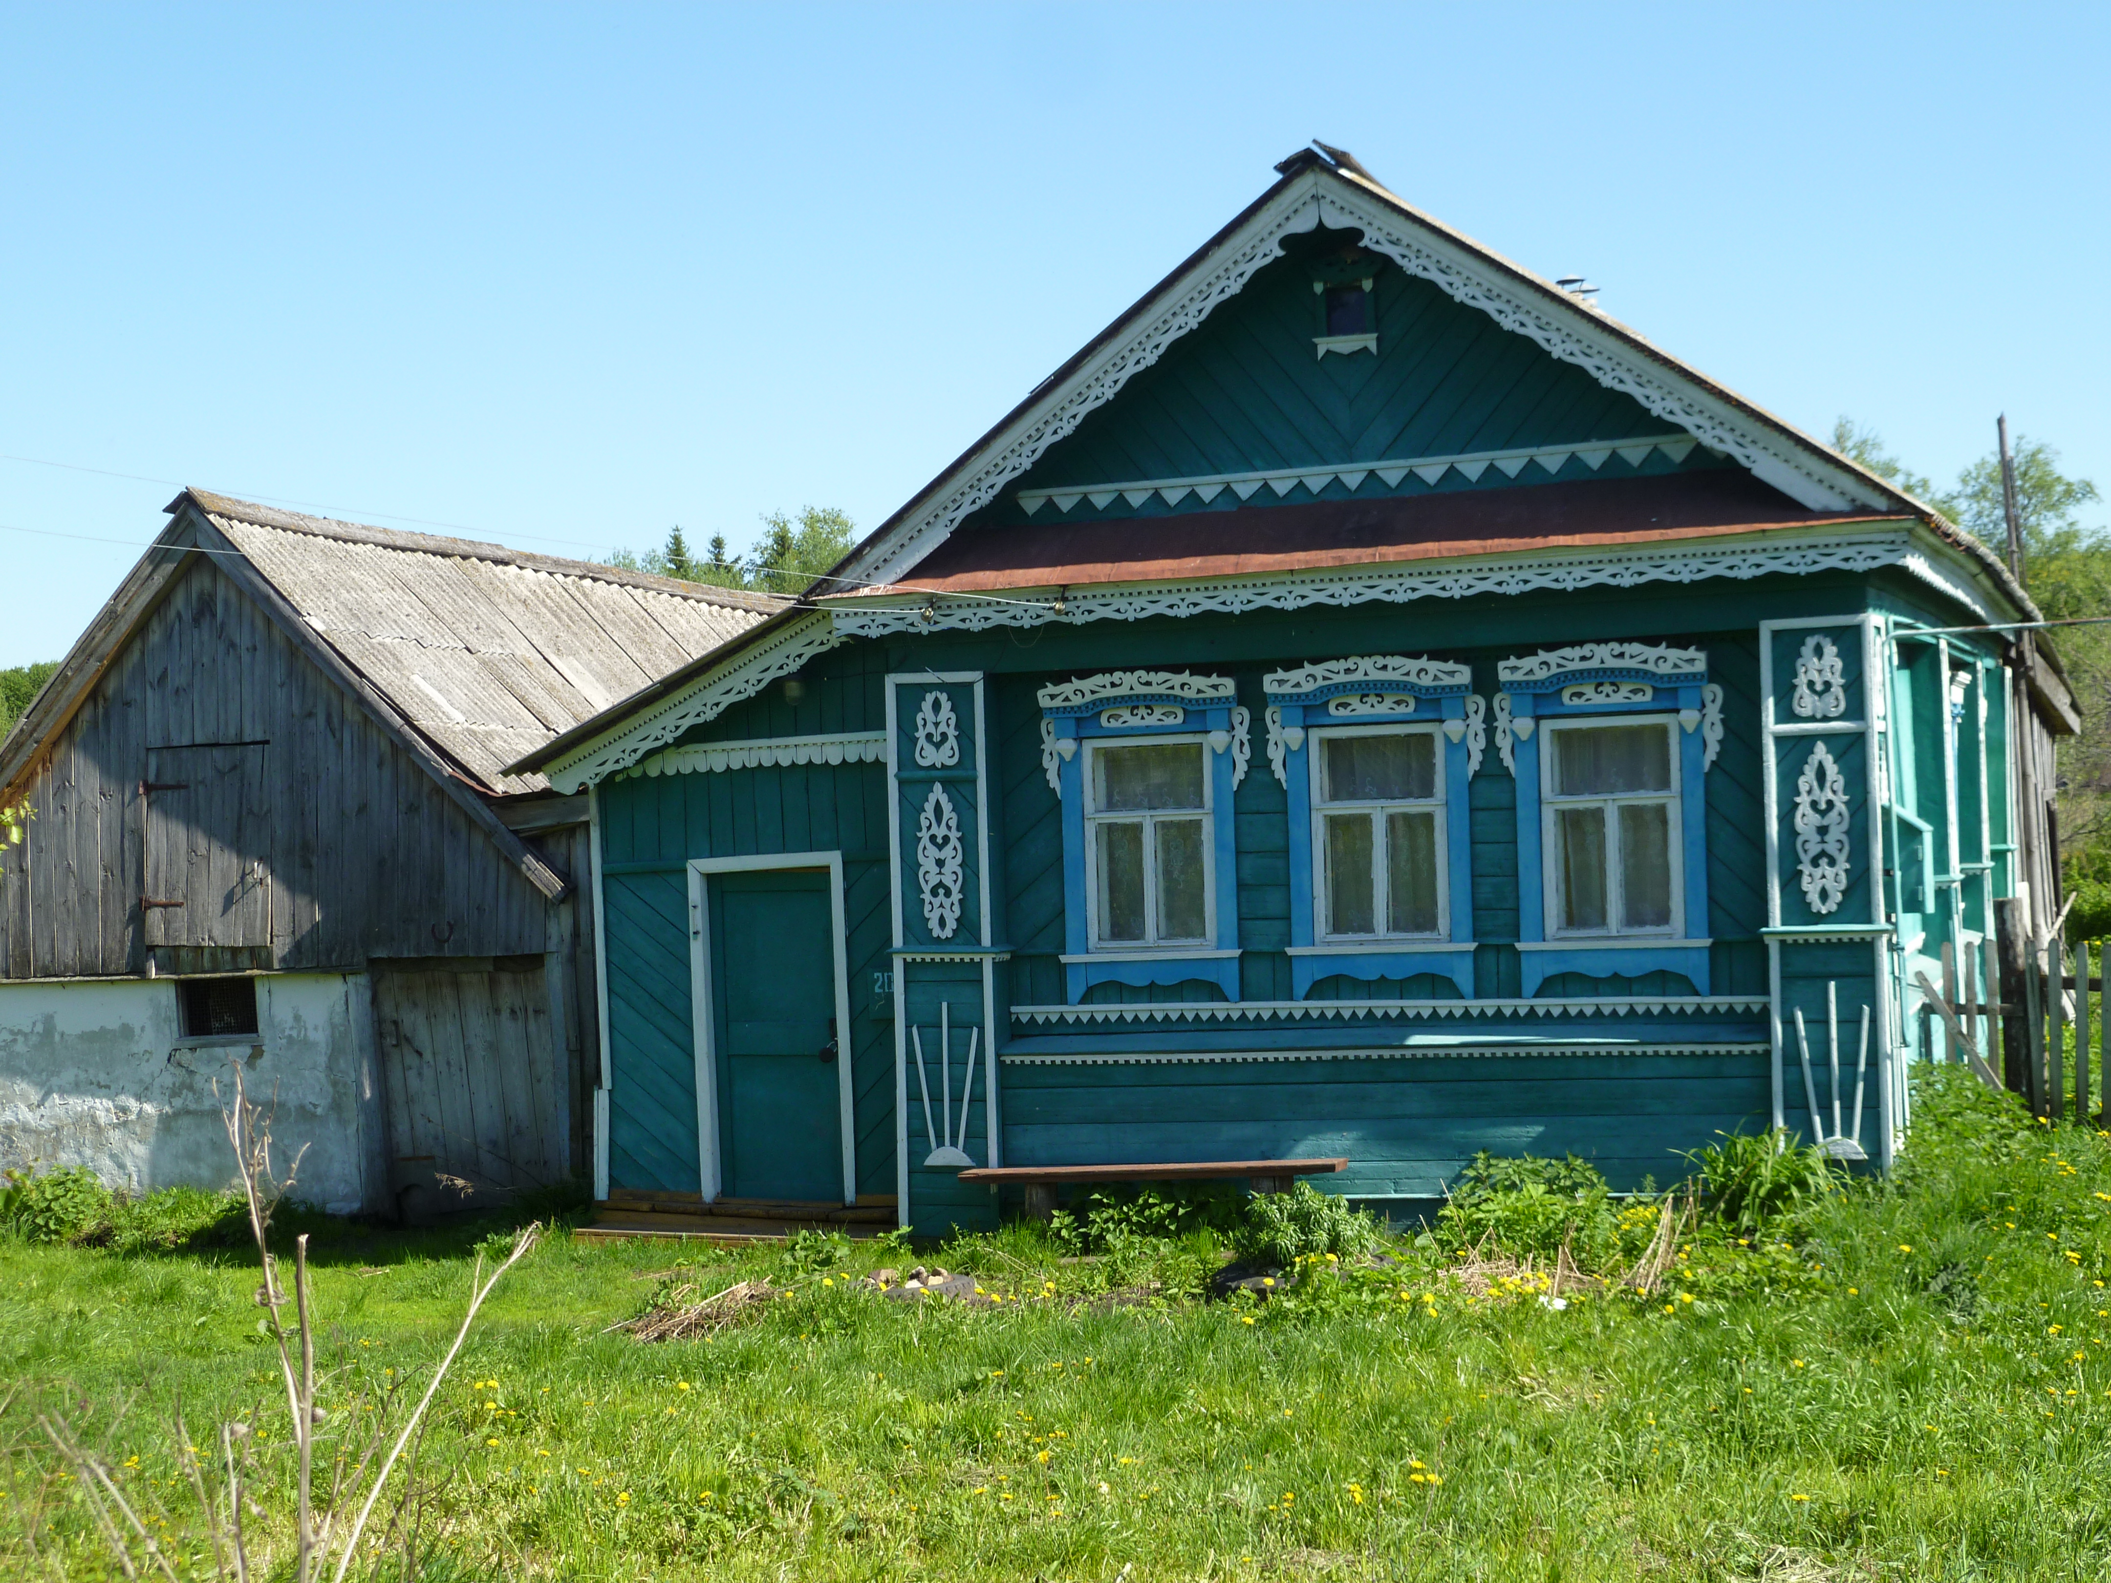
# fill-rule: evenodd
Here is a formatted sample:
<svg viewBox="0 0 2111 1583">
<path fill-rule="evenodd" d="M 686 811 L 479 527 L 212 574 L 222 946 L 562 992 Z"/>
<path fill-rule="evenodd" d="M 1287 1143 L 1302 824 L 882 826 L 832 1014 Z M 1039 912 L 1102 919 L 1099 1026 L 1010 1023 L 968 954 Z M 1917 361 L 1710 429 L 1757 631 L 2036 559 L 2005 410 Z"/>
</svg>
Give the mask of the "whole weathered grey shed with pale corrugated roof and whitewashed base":
<svg viewBox="0 0 2111 1583">
<path fill-rule="evenodd" d="M 585 1163 L 585 798 L 505 766 L 779 599 L 188 490 L 0 743 L 0 1159 L 429 1214 Z M 583 1011 L 585 1007 L 585 1011 Z M 583 1076 L 587 1074 L 587 1076 Z"/>
</svg>

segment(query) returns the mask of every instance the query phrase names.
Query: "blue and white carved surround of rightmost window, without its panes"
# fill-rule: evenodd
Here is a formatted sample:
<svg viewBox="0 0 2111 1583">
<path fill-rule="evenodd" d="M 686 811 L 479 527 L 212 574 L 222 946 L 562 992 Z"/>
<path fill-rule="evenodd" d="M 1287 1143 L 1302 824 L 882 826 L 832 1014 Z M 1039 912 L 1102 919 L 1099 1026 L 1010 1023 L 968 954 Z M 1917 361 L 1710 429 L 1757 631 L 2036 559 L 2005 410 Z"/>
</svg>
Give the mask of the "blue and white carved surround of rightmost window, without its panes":
<svg viewBox="0 0 2111 1583">
<path fill-rule="evenodd" d="M 1708 654 L 1668 644 L 1575 644 L 1499 661 L 1495 739 L 1518 781 L 1518 952 L 1522 990 L 1558 973 L 1682 973 L 1708 994 L 1708 796 L 1723 747 L 1723 688 Z M 1661 933 L 1560 933 L 1554 918 L 1543 722 L 1672 726 L 1672 924 Z"/>
</svg>

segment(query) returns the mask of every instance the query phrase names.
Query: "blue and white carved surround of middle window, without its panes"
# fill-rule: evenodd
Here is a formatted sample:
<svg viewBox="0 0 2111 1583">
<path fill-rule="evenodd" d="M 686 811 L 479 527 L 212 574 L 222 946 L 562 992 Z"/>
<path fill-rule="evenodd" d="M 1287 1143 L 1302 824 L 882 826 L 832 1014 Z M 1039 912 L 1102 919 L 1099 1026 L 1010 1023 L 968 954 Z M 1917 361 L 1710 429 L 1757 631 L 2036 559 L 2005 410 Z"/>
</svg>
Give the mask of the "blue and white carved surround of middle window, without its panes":
<svg viewBox="0 0 2111 1583">
<path fill-rule="evenodd" d="M 1269 699 L 1269 768 L 1290 800 L 1290 992 L 1313 984 L 1438 973 L 1473 994 L 1473 865 L 1467 781 L 1486 747 L 1473 673 L 1452 661 L 1355 654 L 1262 678 Z M 1315 804 L 1315 730 L 1419 726 L 1438 739 L 1438 796 L 1444 870 L 1433 937 L 1321 939 Z"/>
</svg>

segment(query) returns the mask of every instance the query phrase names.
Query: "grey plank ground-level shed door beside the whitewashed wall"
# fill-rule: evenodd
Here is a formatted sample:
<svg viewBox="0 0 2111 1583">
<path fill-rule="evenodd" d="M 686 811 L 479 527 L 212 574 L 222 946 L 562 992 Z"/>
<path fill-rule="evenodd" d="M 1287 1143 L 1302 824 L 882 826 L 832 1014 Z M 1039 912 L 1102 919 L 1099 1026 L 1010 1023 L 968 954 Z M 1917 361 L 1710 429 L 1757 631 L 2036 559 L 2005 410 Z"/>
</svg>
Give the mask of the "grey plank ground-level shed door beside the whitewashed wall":
<svg viewBox="0 0 2111 1583">
<path fill-rule="evenodd" d="M 374 1028 L 407 1220 L 475 1209 L 568 1169 L 543 960 L 374 965 Z"/>
</svg>

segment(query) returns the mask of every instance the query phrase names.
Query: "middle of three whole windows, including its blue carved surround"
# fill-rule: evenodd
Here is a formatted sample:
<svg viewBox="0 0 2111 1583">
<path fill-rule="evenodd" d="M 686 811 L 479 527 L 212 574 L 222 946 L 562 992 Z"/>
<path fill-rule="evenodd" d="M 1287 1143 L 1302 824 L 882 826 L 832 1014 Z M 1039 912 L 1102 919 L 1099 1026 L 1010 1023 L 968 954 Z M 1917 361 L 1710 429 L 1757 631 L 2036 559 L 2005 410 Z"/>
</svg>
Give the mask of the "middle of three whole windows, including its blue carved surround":
<svg viewBox="0 0 2111 1583">
<path fill-rule="evenodd" d="M 1486 745 L 1465 665 L 1364 654 L 1264 680 L 1290 802 L 1290 992 L 1435 973 L 1473 994 L 1467 781 Z"/>
</svg>

